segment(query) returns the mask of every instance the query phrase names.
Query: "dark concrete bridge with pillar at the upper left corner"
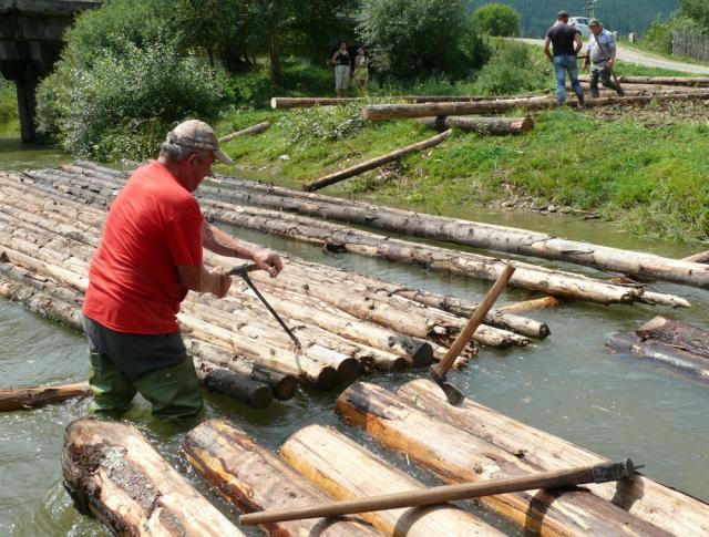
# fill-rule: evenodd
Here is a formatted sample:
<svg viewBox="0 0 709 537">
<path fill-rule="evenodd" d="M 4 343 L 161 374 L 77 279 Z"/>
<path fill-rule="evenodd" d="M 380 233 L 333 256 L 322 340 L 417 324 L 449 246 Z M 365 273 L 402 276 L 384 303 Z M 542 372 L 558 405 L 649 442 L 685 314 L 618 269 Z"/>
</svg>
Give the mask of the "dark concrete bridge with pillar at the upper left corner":
<svg viewBox="0 0 709 537">
<path fill-rule="evenodd" d="M 0 73 L 14 81 L 22 142 L 32 142 L 34 92 L 59 59 L 62 35 L 80 11 L 100 0 L 0 0 Z"/>
</svg>

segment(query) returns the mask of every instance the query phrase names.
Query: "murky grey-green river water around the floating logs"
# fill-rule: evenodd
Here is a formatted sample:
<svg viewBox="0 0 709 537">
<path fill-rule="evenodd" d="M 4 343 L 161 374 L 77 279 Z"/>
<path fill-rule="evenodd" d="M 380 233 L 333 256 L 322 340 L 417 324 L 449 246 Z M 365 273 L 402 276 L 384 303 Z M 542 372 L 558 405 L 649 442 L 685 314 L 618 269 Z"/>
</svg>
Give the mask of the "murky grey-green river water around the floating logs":
<svg viewBox="0 0 709 537">
<path fill-rule="evenodd" d="M 0 141 L 0 169 L 37 168 L 60 162 L 70 162 L 70 157 L 55 151 L 28 151 L 17 143 Z M 567 217 L 492 213 L 477 208 L 460 210 L 454 216 L 669 257 L 685 257 L 706 249 L 702 245 L 639 240 L 602 223 Z M 255 231 L 239 231 L 238 235 L 308 260 L 470 300 L 480 299 L 490 287 L 476 280 L 427 273 L 417 267 L 378 259 L 348 254 L 325 255 L 317 247 Z M 553 262 L 545 265 L 562 267 Z M 548 323 L 549 338 L 525 349 L 483 349 L 465 370 L 453 372 L 451 380 L 482 404 L 606 457 L 631 457 L 637 464 L 646 465 L 644 472 L 649 476 L 709 500 L 707 384 L 664 365 L 610 354 L 604 345 L 613 332 L 635 329 L 660 313 L 698 327 L 709 326 L 707 291 L 672 285 L 654 287 L 680 295 L 693 307 L 670 311 L 647 306 L 604 307 L 576 302 L 537 311 L 532 317 Z M 512 290 L 500 303 L 533 297 L 525 291 Z M 0 388 L 65 383 L 84 380 L 86 374 L 86 348 L 82 335 L 38 318 L 18 304 L 0 301 Z M 371 376 L 368 381 L 394 389 L 424 374 L 412 371 Z M 275 402 L 266 411 L 253 411 L 224 397 L 207 396 L 207 415 L 232 419 L 271 448 L 277 448 L 304 425 L 329 424 L 407 472 L 433 483 L 425 474 L 408 466 L 404 458 L 382 451 L 357 431 L 339 423 L 333 413 L 336 395 L 301 391 L 294 400 Z M 85 410 L 86 402 L 71 402 L 0 414 L 0 535 L 109 535 L 101 525 L 78 514 L 61 485 L 63 428 L 71 420 L 84 415 Z M 151 421 L 150 412 L 141 401 L 127 417 L 215 505 L 229 513 L 179 458 L 183 433 Z M 517 534 L 496 517 L 476 513 L 506 533 Z"/>
</svg>

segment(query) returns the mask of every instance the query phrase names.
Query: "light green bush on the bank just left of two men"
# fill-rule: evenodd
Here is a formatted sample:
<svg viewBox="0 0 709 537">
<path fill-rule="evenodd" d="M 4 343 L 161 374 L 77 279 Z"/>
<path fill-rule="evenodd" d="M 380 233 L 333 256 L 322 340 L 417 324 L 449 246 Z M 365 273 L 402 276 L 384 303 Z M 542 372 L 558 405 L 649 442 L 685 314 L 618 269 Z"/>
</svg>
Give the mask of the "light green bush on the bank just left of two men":
<svg viewBox="0 0 709 537">
<path fill-rule="evenodd" d="M 511 95 L 548 86 L 552 69 L 541 54 L 523 43 L 500 41 L 490 61 L 480 71 L 475 93 Z"/>
</svg>

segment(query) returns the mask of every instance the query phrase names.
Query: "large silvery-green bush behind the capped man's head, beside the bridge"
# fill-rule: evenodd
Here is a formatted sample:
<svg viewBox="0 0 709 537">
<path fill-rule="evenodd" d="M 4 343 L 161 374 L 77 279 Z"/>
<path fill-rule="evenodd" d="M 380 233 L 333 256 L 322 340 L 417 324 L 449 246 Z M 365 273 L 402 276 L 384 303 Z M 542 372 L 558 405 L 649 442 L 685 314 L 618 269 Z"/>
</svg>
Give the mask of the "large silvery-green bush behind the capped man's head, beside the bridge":
<svg viewBox="0 0 709 537">
<path fill-rule="evenodd" d="M 61 60 L 38 92 L 39 130 L 74 155 L 143 159 L 174 123 L 215 113 L 224 96 L 205 62 L 171 43 L 141 49 L 123 40 L 93 63 Z"/>
</svg>

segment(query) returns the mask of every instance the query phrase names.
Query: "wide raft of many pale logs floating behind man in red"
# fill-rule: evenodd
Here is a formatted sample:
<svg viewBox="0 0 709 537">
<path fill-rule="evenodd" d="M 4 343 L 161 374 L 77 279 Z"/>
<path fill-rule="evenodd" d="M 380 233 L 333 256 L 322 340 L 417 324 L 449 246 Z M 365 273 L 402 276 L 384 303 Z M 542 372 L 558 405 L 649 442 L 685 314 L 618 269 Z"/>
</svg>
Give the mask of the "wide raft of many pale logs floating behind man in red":
<svg viewBox="0 0 709 537">
<path fill-rule="evenodd" d="M 0 174 L 0 296 L 81 328 L 89 264 L 105 208 L 121 186 L 106 177 Z M 235 264 L 215 255 L 206 260 L 225 268 Z M 222 300 L 191 293 L 178 319 L 204 384 L 256 407 L 274 396 L 291 397 L 298 381 L 329 390 L 361 371 L 428 365 L 444 354 L 475 308 L 296 258 L 286 259 L 276 279 L 251 277 L 304 342 L 301 350 L 240 280 Z M 549 333 L 544 323 L 501 311 L 486 322 L 474 340 L 489 347 L 527 345 L 530 338 Z M 463 359 L 475 351 L 471 342 Z"/>
</svg>

